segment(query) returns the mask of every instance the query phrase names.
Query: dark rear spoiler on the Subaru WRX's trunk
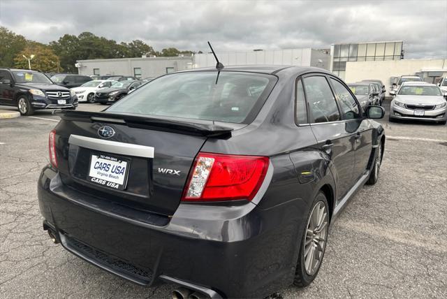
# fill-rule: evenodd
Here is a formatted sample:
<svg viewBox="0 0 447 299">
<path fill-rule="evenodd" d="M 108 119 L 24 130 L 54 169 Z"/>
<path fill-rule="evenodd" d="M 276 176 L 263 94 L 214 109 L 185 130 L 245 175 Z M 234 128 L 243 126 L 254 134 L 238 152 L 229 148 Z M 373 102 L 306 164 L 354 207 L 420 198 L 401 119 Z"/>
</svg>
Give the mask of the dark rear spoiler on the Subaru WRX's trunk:
<svg viewBox="0 0 447 299">
<path fill-rule="evenodd" d="M 221 126 L 210 120 L 197 120 L 187 122 L 183 120 L 170 119 L 169 117 L 145 117 L 126 114 L 115 114 L 108 112 L 89 112 L 75 110 L 60 110 L 56 112 L 61 119 L 75 122 L 106 122 L 112 124 L 124 124 L 131 128 L 156 129 L 173 133 L 189 133 L 196 136 L 206 137 L 230 137 L 231 131 L 237 127 Z"/>
</svg>

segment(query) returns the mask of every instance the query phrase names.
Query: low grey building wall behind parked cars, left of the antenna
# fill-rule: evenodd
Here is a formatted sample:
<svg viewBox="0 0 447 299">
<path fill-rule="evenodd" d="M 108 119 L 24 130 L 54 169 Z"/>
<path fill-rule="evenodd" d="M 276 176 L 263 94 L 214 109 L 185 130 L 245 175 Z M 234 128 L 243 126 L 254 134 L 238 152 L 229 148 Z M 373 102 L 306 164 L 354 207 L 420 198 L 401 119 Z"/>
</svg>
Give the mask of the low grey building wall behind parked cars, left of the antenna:
<svg viewBox="0 0 447 299">
<path fill-rule="evenodd" d="M 141 68 L 141 78 L 158 77 L 166 74 L 166 68 L 184 71 L 192 67 L 192 57 L 150 57 L 129 59 L 91 59 L 80 60 L 80 75 L 93 75 L 99 68 L 100 75 L 134 75 L 134 68 Z"/>
</svg>

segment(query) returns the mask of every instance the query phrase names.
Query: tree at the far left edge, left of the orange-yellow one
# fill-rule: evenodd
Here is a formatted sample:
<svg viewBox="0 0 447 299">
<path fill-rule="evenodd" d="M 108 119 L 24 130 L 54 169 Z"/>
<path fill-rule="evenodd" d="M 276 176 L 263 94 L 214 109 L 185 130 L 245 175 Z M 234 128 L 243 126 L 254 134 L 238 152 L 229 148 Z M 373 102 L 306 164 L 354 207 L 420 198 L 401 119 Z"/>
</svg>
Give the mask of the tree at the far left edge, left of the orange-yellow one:
<svg viewBox="0 0 447 299">
<path fill-rule="evenodd" d="M 14 57 L 27 45 L 24 36 L 15 34 L 5 27 L 0 27 L 0 66 L 12 68 Z"/>
</svg>

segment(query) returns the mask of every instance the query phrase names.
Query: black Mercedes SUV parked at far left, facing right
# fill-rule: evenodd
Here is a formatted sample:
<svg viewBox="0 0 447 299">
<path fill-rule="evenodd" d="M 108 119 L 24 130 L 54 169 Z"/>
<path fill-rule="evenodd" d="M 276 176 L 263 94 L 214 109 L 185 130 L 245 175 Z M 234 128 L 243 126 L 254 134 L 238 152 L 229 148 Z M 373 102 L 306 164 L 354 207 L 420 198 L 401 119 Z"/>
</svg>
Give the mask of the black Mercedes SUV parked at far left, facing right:
<svg viewBox="0 0 447 299">
<path fill-rule="evenodd" d="M 37 109 L 75 110 L 78 98 L 38 71 L 0 68 L 0 105 L 16 106 L 20 114 L 32 115 Z"/>
</svg>

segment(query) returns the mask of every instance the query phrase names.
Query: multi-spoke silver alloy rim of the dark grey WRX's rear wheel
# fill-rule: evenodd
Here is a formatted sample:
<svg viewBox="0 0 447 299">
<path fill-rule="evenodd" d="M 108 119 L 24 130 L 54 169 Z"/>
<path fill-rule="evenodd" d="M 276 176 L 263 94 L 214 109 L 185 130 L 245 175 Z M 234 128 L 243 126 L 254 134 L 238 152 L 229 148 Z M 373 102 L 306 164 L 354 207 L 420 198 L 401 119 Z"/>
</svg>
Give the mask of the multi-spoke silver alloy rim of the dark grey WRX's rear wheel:
<svg viewBox="0 0 447 299">
<path fill-rule="evenodd" d="M 318 201 L 312 209 L 305 238 L 304 261 L 307 275 L 314 275 L 323 259 L 328 235 L 328 210 L 323 201 Z"/>
</svg>

